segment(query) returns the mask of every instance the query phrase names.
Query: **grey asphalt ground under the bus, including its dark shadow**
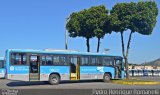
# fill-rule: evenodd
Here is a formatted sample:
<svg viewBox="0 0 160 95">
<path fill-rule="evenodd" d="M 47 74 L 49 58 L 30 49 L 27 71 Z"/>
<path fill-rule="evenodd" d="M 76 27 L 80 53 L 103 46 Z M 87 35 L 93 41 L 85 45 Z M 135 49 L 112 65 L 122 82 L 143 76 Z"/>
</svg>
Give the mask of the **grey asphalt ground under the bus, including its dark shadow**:
<svg viewBox="0 0 160 95">
<path fill-rule="evenodd" d="M 145 80 L 160 81 L 160 77 L 138 77 Z M 0 88 L 8 89 L 160 89 L 160 85 L 121 85 L 103 81 L 66 81 L 59 85 L 44 82 L 21 82 L 0 79 Z"/>
</svg>

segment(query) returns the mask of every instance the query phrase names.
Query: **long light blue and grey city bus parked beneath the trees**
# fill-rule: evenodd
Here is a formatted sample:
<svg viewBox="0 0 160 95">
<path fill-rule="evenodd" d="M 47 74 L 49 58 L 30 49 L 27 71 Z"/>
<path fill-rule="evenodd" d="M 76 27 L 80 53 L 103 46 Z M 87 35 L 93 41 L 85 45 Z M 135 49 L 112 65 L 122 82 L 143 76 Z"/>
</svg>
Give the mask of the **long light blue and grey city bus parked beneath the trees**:
<svg viewBox="0 0 160 95">
<path fill-rule="evenodd" d="M 124 78 L 121 56 L 71 50 L 6 50 L 6 78 L 19 81 L 95 80 Z"/>
</svg>

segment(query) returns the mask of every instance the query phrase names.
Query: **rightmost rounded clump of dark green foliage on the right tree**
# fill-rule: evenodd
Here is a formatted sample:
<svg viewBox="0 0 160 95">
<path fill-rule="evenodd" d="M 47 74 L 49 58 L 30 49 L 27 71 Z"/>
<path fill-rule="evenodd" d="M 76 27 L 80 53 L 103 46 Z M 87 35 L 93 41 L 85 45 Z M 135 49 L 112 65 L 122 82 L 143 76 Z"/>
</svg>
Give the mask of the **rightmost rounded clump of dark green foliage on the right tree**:
<svg viewBox="0 0 160 95">
<path fill-rule="evenodd" d="M 154 1 L 138 2 L 137 11 L 132 22 L 135 31 L 143 35 L 150 35 L 156 24 L 158 8 Z"/>
</svg>

